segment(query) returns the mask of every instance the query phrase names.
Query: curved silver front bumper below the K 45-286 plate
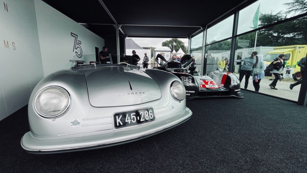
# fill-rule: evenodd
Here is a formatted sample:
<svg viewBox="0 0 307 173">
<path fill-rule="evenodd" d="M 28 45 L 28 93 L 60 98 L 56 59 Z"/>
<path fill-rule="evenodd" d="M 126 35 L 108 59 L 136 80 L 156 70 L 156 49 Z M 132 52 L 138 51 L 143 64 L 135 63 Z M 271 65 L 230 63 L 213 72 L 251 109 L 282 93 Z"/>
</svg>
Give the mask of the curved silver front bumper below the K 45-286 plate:
<svg viewBox="0 0 307 173">
<path fill-rule="evenodd" d="M 94 148 L 111 147 L 119 144 L 140 140 L 161 133 L 184 123 L 192 116 L 192 111 L 186 107 L 185 111 L 165 119 L 161 122 L 148 124 L 140 128 L 131 128 L 124 131 L 113 131 L 99 135 L 60 139 L 38 139 L 27 132 L 21 139 L 21 146 L 29 153 L 61 153 L 70 151 L 82 151 Z"/>
</svg>

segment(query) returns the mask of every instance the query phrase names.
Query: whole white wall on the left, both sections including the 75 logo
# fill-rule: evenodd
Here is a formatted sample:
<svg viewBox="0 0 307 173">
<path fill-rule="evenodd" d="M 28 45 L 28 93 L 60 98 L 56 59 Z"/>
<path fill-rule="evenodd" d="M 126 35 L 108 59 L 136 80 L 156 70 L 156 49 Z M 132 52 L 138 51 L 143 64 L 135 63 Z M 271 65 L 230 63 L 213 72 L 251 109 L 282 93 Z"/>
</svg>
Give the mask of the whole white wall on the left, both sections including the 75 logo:
<svg viewBox="0 0 307 173">
<path fill-rule="evenodd" d="M 0 3 L 0 120 L 27 105 L 44 76 L 71 66 L 69 60 L 76 56 L 71 32 L 81 41 L 83 57 L 104 46 L 103 38 L 41 0 L 4 4 Z"/>
</svg>

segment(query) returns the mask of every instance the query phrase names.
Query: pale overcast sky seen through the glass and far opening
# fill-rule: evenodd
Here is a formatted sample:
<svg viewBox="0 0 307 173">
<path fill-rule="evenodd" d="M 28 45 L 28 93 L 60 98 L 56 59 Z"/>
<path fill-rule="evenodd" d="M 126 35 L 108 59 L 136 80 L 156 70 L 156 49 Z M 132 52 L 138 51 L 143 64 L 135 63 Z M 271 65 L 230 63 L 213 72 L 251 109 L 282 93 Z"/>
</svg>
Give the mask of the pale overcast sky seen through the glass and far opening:
<svg viewBox="0 0 307 173">
<path fill-rule="evenodd" d="M 260 13 L 267 14 L 267 13 L 273 13 L 276 14 L 279 11 L 286 11 L 286 6 L 282 5 L 284 3 L 292 2 L 292 0 L 259 0 L 250 6 L 248 6 L 246 9 L 241 10 L 239 14 L 239 29 L 238 33 L 243 33 L 246 31 L 251 30 L 250 27 L 253 27 L 252 18 L 255 15 L 255 12 L 258 8 L 258 5 L 260 4 Z M 291 17 L 291 15 L 288 15 L 288 18 Z M 229 26 L 232 28 L 232 22 L 233 20 L 229 20 Z M 229 30 L 229 27 L 224 27 L 225 23 L 223 23 L 223 27 L 216 26 L 214 27 L 214 34 L 212 33 L 211 38 L 207 38 L 210 40 L 216 39 L 220 40 L 223 38 L 228 38 L 231 36 L 231 30 Z M 224 35 L 226 34 L 226 36 Z M 209 35 L 209 33 L 208 33 Z M 230 36 L 229 36 L 230 35 Z M 162 42 L 170 40 L 172 38 L 132 38 L 134 42 L 150 42 L 150 46 L 157 47 L 161 46 Z M 185 46 L 188 46 L 188 38 L 180 38 L 182 42 L 184 42 Z M 200 44 L 202 41 L 200 40 Z"/>
</svg>

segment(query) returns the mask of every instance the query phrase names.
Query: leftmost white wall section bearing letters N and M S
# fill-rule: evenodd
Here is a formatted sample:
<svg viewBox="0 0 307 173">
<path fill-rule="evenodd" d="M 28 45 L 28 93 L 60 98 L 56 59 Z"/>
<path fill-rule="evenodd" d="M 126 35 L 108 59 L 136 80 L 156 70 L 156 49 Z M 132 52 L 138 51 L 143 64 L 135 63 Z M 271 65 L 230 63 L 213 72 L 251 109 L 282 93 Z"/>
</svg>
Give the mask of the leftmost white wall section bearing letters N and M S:
<svg viewBox="0 0 307 173">
<path fill-rule="evenodd" d="M 2 120 L 28 104 L 31 91 L 43 78 L 43 68 L 34 1 L 2 1 L 0 16 L 0 120 Z M 8 43 L 8 46 L 5 43 Z"/>
</svg>

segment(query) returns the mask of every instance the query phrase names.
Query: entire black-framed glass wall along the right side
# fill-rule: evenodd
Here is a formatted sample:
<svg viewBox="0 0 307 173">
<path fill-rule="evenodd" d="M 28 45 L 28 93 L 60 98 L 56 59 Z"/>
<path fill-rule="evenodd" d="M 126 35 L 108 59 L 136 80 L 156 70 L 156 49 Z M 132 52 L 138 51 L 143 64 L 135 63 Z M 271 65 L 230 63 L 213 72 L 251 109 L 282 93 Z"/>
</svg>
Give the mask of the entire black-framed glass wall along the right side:
<svg viewBox="0 0 307 173">
<path fill-rule="evenodd" d="M 259 7 L 259 8 L 258 8 Z M 297 66 L 298 61 L 307 55 L 307 4 L 306 0 L 258 0 L 250 6 L 239 11 L 238 31 L 237 34 L 242 34 L 255 30 L 255 28 L 263 27 L 262 30 L 251 32 L 232 38 L 232 26 L 234 24 L 234 15 L 224 19 L 215 26 L 206 30 L 206 44 L 204 59 L 205 73 L 217 71 L 217 58 L 225 57 L 228 59 L 228 66 L 225 66 L 223 71 L 233 72 L 240 76 L 244 61 L 239 62 L 244 58 L 251 58 L 253 51 L 258 52 L 258 56 L 263 55 L 265 66 L 268 66 L 274 58 L 280 54 L 285 54 L 285 68 L 281 71 L 281 78 L 277 80 L 276 88 L 271 89 L 274 75 L 265 71 L 265 76 L 258 81 L 259 92 L 290 99 L 298 100 L 300 85 L 290 90 L 290 84 L 301 79 L 300 67 Z M 259 15 L 255 15 L 259 14 Z M 305 14 L 304 17 L 294 19 L 292 21 L 283 22 L 285 19 L 295 17 L 299 14 Z M 254 17 L 258 16 L 258 19 Z M 275 24 L 272 27 L 267 25 Z M 195 37 L 191 42 L 191 54 L 197 53 L 200 50 Z M 221 42 L 220 40 L 231 38 Z M 231 41 L 235 39 L 235 50 L 231 53 Z M 208 46 L 208 44 L 210 44 Z M 200 57 L 201 58 L 201 57 Z M 229 66 L 233 64 L 233 68 Z M 246 63 L 247 64 L 247 63 Z M 265 68 L 265 67 L 264 67 Z M 242 75 L 243 76 L 243 75 Z M 247 81 L 247 85 L 246 82 Z M 250 74 L 241 77 L 241 88 L 255 91 L 256 83 L 253 76 Z M 254 86 L 255 84 L 255 86 Z M 257 86 L 256 86 L 257 87 Z M 305 90 L 307 90 L 305 88 Z M 285 91 L 290 91 L 291 95 L 286 95 Z M 287 92 L 289 93 L 289 92 Z"/>
</svg>

